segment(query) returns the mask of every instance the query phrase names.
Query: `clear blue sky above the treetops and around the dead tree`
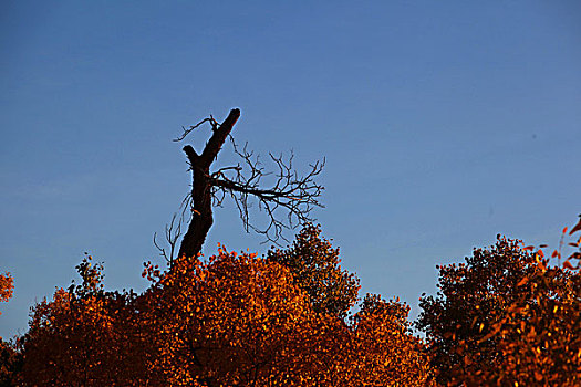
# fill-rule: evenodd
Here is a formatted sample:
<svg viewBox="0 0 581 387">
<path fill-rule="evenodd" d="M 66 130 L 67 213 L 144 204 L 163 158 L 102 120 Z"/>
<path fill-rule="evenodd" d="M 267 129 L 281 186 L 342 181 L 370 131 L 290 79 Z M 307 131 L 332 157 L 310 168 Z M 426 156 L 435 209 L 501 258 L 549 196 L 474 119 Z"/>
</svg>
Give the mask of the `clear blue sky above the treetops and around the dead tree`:
<svg viewBox="0 0 581 387">
<path fill-rule="evenodd" d="M 4 338 L 84 251 L 145 287 L 190 182 L 172 138 L 232 107 L 257 151 L 326 157 L 324 236 L 413 316 L 436 264 L 581 212 L 579 1 L 2 1 L 0 85 Z M 268 247 L 231 207 L 218 241 Z"/>
</svg>

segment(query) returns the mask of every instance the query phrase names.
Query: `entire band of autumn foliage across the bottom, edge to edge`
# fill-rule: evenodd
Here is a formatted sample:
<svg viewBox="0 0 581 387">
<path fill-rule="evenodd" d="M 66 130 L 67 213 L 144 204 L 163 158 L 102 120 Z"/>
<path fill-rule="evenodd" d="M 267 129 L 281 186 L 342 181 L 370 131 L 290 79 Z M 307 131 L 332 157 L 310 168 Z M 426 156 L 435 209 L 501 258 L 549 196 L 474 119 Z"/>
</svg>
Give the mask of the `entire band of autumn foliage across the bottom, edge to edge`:
<svg viewBox="0 0 581 387">
<path fill-rule="evenodd" d="M 409 306 L 367 294 L 339 250 L 308 224 L 264 257 L 146 263 L 142 294 L 110 292 L 91 257 L 81 282 L 32 308 L 2 342 L 2 385 L 577 386 L 581 384 L 580 240 L 541 249 L 498 237 L 439 266 L 439 292 Z M 568 243 L 566 243 L 566 241 Z M 570 253 L 564 253 L 570 249 Z M 572 251 L 571 251 L 572 249 Z M 550 255 L 550 254 L 547 254 Z M 0 275 L 0 295 L 13 282 Z M 353 306 L 359 308 L 353 312 Z"/>
</svg>

